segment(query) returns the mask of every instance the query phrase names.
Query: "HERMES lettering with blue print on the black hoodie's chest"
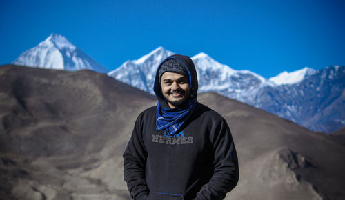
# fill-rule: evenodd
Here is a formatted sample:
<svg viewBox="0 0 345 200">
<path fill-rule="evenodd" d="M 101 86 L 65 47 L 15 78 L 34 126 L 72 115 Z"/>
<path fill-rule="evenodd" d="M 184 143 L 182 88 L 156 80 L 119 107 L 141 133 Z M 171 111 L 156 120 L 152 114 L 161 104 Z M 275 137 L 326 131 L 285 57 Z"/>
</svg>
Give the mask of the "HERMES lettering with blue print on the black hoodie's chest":
<svg viewBox="0 0 345 200">
<path fill-rule="evenodd" d="M 193 143 L 193 136 L 185 136 L 184 131 L 170 135 L 164 131 L 164 135 L 152 134 L 151 142 L 164 143 L 166 145 L 184 145 Z"/>
</svg>

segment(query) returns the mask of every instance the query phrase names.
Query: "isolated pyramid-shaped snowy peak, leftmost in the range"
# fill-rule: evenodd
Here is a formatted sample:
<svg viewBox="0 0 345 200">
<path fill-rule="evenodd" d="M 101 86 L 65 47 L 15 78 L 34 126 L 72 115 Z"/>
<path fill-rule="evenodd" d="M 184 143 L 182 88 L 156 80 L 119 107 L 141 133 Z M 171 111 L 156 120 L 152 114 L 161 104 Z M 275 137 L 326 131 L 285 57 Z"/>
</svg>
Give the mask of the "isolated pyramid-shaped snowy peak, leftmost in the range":
<svg viewBox="0 0 345 200">
<path fill-rule="evenodd" d="M 51 34 L 34 48 L 23 52 L 13 64 L 38 68 L 76 71 L 82 69 L 107 73 L 101 64 L 74 46 L 66 37 Z"/>
</svg>

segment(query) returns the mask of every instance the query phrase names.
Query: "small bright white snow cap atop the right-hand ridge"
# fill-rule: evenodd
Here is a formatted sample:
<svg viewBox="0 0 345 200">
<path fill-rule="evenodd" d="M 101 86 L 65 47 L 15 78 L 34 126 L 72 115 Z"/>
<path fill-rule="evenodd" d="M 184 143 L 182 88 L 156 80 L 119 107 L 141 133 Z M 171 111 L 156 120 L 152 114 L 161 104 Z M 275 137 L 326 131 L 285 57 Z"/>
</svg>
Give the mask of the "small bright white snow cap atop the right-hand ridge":
<svg viewBox="0 0 345 200">
<path fill-rule="evenodd" d="M 312 68 L 303 68 L 295 72 L 282 72 L 275 77 L 270 77 L 270 81 L 277 83 L 278 85 L 295 84 L 304 79 L 309 75 L 315 74 L 315 70 Z"/>
</svg>

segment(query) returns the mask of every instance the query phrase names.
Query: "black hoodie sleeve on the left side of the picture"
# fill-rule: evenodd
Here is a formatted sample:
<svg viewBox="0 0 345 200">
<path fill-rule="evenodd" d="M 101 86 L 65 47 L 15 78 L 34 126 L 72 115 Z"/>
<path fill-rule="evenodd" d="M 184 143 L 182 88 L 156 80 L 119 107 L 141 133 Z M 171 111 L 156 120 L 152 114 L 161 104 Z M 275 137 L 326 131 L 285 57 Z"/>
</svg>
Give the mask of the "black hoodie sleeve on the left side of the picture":
<svg viewBox="0 0 345 200">
<path fill-rule="evenodd" d="M 145 181 L 147 152 L 142 135 L 142 114 L 135 122 L 132 137 L 124 152 L 124 180 L 132 199 L 148 199 L 148 187 Z"/>
</svg>

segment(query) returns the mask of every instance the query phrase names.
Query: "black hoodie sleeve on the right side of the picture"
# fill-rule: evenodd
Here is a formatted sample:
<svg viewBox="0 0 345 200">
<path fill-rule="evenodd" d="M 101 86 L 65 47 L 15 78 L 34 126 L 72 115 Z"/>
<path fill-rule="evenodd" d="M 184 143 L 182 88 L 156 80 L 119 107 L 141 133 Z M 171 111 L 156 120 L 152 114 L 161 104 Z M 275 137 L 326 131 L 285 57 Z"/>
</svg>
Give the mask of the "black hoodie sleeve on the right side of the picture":
<svg viewBox="0 0 345 200">
<path fill-rule="evenodd" d="M 210 132 L 210 141 L 213 143 L 215 170 L 210 181 L 197 193 L 197 200 L 224 199 L 239 179 L 237 153 L 225 119 Z"/>
</svg>

